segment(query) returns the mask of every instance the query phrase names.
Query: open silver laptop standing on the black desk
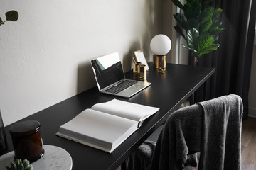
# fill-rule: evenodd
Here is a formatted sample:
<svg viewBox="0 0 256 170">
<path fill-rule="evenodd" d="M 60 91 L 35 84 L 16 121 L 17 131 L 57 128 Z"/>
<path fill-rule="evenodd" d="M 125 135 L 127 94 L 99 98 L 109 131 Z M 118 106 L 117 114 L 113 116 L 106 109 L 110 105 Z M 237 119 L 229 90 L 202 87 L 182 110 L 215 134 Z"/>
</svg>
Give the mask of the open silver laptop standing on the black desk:
<svg viewBox="0 0 256 170">
<path fill-rule="evenodd" d="M 130 98 L 151 83 L 125 79 L 118 52 L 91 60 L 100 93 Z"/>
</svg>

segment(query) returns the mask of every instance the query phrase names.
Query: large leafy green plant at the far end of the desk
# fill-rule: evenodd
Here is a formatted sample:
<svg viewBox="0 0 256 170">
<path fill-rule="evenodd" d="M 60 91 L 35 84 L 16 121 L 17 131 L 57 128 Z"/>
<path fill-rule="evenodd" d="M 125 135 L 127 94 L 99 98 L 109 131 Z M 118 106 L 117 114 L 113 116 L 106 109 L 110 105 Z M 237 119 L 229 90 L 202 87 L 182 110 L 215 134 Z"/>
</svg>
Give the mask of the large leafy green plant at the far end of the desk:
<svg viewBox="0 0 256 170">
<path fill-rule="evenodd" d="M 196 60 L 203 54 L 217 50 L 220 45 L 215 44 L 214 41 L 218 40 L 218 34 L 223 30 L 219 28 L 222 21 L 218 20 L 222 9 L 208 6 L 202 10 L 198 0 L 186 0 L 184 5 L 178 0 L 172 0 L 172 2 L 183 11 L 183 14 L 174 14 L 177 21 L 174 28 L 188 45 L 182 46 L 191 50 Z"/>
</svg>

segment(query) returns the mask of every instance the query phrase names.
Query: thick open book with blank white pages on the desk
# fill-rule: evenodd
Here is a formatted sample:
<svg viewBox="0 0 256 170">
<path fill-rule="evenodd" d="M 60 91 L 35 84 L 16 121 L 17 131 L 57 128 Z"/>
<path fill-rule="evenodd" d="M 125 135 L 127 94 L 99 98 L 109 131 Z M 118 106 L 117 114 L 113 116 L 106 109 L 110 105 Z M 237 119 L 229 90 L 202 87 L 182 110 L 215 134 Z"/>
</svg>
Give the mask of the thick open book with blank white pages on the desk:
<svg viewBox="0 0 256 170">
<path fill-rule="evenodd" d="M 113 99 L 97 103 L 60 126 L 56 135 L 112 152 L 159 108 Z"/>
</svg>

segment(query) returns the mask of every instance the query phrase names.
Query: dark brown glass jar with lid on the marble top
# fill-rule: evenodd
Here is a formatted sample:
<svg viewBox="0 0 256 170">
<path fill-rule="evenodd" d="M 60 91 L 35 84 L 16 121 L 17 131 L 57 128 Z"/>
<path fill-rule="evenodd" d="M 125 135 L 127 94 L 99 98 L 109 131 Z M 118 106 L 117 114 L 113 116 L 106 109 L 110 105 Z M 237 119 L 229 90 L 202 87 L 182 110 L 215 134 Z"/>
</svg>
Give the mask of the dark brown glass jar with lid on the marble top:
<svg viewBox="0 0 256 170">
<path fill-rule="evenodd" d="M 11 126 L 9 132 L 14 146 L 14 159 L 28 159 L 30 162 L 35 162 L 43 157 L 40 126 L 36 120 L 26 120 Z"/>
</svg>

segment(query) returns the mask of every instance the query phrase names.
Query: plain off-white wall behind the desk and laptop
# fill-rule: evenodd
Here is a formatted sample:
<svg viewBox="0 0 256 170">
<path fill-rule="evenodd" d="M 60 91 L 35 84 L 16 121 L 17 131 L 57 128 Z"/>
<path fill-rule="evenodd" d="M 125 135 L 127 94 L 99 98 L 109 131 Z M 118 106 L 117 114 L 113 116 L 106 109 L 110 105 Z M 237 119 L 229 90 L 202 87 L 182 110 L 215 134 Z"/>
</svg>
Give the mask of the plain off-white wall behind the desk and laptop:
<svg viewBox="0 0 256 170">
<path fill-rule="evenodd" d="M 0 108 L 4 125 L 95 86 L 90 60 L 119 52 L 124 71 L 161 28 L 157 0 L 0 0 Z"/>
</svg>

